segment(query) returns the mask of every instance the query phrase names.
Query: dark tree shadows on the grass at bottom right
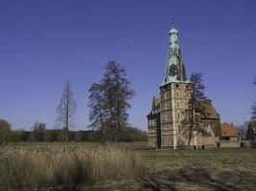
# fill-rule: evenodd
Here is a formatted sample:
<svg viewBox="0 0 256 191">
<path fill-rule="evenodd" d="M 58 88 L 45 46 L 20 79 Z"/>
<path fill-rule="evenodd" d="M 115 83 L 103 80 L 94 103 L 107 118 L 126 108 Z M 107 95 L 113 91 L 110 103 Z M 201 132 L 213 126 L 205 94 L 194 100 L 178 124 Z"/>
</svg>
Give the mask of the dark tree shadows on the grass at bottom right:
<svg viewBox="0 0 256 191">
<path fill-rule="evenodd" d="M 238 191 L 253 190 L 256 175 L 249 172 L 221 171 L 215 176 L 202 167 L 184 167 L 172 171 L 169 176 L 151 176 L 140 178 L 140 190 L 152 191 L 178 191 L 178 190 L 216 190 Z M 195 186 L 195 187 L 194 187 Z"/>
</svg>

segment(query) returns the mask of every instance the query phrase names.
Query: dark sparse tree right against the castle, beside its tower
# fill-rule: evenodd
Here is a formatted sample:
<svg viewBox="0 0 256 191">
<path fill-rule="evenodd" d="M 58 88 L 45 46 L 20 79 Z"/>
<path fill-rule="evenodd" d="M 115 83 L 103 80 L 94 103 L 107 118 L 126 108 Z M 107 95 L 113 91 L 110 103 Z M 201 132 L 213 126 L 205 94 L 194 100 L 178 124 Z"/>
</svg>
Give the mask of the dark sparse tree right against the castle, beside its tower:
<svg viewBox="0 0 256 191">
<path fill-rule="evenodd" d="M 187 89 L 187 94 L 190 95 L 188 101 L 188 109 L 184 112 L 184 120 L 182 125 L 184 126 L 183 134 L 188 137 L 188 145 L 191 143 L 193 133 L 208 134 L 204 129 L 205 121 L 202 120 L 205 117 L 205 106 L 203 103 L 208 101 L 204 96 L 205 86 L 202 83 L 202 74 L 191 74 L 190 86 Z"/>
</svg>

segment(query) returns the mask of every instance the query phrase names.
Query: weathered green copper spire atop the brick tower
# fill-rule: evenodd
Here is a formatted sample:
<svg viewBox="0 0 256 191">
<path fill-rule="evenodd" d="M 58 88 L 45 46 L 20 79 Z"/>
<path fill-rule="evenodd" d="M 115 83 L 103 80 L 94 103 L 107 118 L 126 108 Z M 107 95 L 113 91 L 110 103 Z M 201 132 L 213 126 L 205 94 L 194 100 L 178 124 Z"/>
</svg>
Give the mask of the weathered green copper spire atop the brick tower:
<svg viewBox="0 0 256 191">
<path fill-rule="evenodd" d="M 185 72 L 185 65 L 181 56 L 178 44 L 178 32 L 175 29 L 175 21 L 172 16 L 172 29 L 169 32 L 168 60 L 166 63 L 166 74 L 162 85 L 171 82 L 188 82 Z"/>
</svg>

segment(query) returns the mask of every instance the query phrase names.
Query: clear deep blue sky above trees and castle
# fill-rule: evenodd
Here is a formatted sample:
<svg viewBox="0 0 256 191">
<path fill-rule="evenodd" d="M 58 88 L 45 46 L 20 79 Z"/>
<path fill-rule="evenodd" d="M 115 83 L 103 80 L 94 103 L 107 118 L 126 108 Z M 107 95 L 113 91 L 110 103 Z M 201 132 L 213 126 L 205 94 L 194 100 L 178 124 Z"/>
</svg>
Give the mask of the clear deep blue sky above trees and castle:
<svg viewBox="0 0 256 191">
<path fill-rule="evenodd" d="M 221 121 L 248 120 L 256 99 L 254 0 L 0 0 L 0 117 L 15 129 L 36 120 L 53 127 L 69 79 L 77 129 L 85 129 L 87 90 L 115 60 L 136 92 L 129 122 L 146 130 L 164 77 L 170 15 L 187 72 L 204 75 Z"/>
</svg>

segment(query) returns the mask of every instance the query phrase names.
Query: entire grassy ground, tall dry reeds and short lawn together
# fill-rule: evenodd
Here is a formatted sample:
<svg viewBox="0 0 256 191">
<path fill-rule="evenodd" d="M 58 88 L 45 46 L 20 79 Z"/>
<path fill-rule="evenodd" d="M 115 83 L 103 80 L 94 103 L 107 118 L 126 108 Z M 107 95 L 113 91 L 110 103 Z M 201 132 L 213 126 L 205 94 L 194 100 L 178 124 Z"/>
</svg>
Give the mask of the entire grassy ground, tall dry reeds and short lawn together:
<svg viewBox="0 0 256 191">
<path fill-rule="evenodd" d="M 19 143 L 0 154 L 1 190 L 256 190 L 255 149 Z"/>
</svg>

